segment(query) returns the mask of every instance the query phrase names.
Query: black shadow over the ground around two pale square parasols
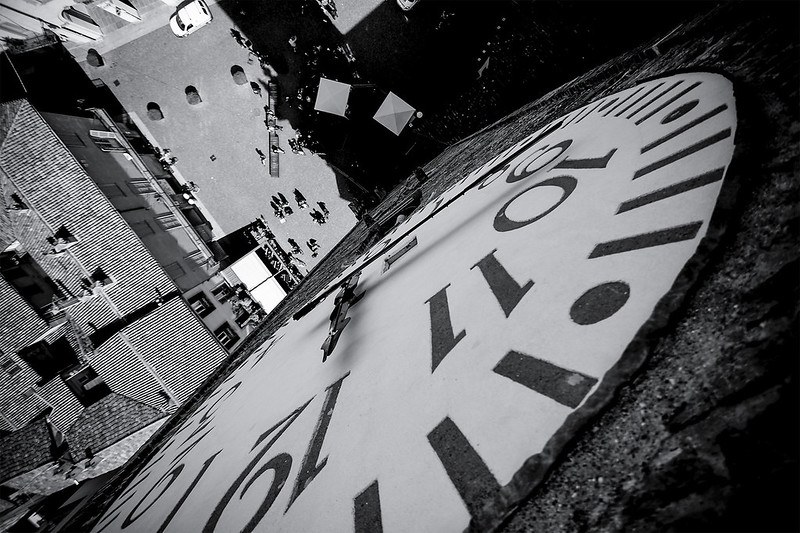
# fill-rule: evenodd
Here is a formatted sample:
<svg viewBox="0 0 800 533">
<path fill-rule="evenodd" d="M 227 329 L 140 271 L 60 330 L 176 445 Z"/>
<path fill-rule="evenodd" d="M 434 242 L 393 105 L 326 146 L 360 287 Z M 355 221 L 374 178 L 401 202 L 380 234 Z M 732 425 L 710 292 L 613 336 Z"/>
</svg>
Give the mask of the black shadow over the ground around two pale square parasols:
<svg viewBox="0 0 800 533">
<path fill-rule="evenodd" d="M 372 192 L 713 4 L 428 0 L 403 12 L 386 1 L 345 35 L 315 0 L 218 5 L 277 84 L 277 117 Z M 346 117 L 314 110 L 320 77 L 353 85 Z M 423 113 L 399 136 L 372 118 L 389 91 Z"/>
</svg>

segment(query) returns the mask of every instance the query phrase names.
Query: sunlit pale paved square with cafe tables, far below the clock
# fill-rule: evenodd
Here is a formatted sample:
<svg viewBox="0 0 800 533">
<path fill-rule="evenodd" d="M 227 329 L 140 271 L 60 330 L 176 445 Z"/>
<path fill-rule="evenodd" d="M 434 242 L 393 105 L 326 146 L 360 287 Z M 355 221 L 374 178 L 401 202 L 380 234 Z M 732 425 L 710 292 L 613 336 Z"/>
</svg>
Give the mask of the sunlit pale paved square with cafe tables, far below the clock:
<svg viewBox="0 0 800 533">
<path fill-rule="evenodd" d="M 295 132 L 288 122 L 278 122 L 283 127 L 278 132 L 280 147 L 286 152 L 279 156 L 280 177 L 271 177 L 269 167 L 261 164 L 256 150 L 270 152 L 264 123 L 269 74 L 231 38 L 233 23 L 225 11 L 217 5 L 210 9 L 213 22 L 186 38 L 176 37 L 164 26 L 104 52 L 103 67 L 82 66 L 91 78 L 102 79 L 111 88 L 159 146 L 178 158 L 177 170 L 200 187 L 197 196 L 220 226 L 218 231 L 228 233 L 263 214 L 287 250 L 288 238 L 303 248 L 314 238 L 322 256 L 356 219 L 340 198 L 336 176 L 327 164 L 309 151 L 305 156 L 291 152 L 287 139 Z M 235 65 L 244 70 L 248 83 L 234 82 L 231 68 Z M 249 82 L 262 87 L 261 97 Z M 187 102 L 188 86 L 197 89 L 200 104 Z M 159 105 L 163 120 L 148 119 L 150 102 Z M 295 188 L 306 197 L 309 209 L 297 208 Z M 283 224 L 269 205 L 278 193 L 289 199 L 294 210 Z M 312 209 L 319 209 L 319 201 L 330 211 L 323 226 L 309 216 Z M 301 258 L 311 267 L 316 260 L 305 251 Z"/>
</svg>

